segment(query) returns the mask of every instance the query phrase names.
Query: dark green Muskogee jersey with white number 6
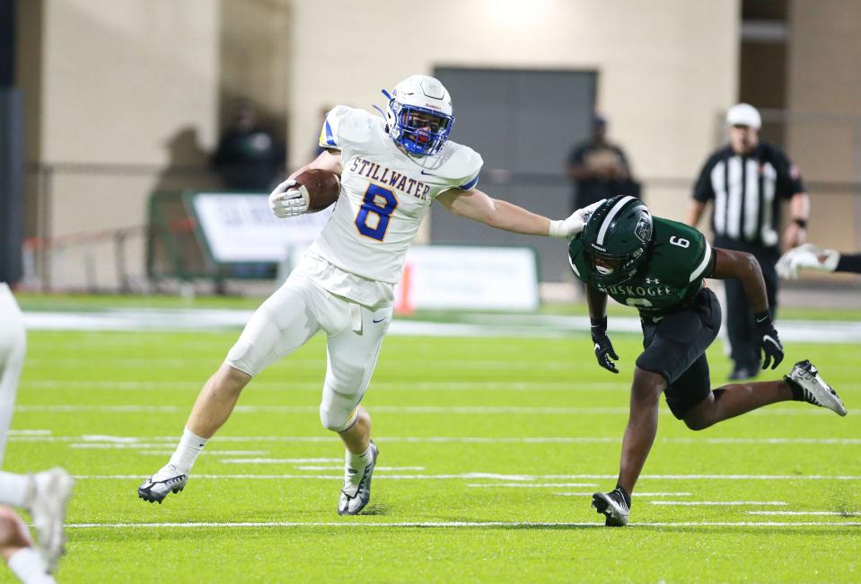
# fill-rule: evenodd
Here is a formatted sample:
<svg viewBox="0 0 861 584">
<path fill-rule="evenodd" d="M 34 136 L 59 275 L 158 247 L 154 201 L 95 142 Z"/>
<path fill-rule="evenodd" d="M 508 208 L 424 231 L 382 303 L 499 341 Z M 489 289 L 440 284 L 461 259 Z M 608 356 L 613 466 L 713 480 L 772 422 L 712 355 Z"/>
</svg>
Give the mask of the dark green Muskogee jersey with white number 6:
<svg viewBox="0 0 861 584">
<path fill-rule="evenodd" d="M 646 314 L 662 314 L 690 302 L 711 274 L 714 253 L 706 237 L 683 223 L 654 217 L 654 237 L 637 274 L 621 284 L 599 286 L 577 235 L 568 247 L 568 260 L 577 278 L 606 292 L 622 305 Z"/>
</svg>

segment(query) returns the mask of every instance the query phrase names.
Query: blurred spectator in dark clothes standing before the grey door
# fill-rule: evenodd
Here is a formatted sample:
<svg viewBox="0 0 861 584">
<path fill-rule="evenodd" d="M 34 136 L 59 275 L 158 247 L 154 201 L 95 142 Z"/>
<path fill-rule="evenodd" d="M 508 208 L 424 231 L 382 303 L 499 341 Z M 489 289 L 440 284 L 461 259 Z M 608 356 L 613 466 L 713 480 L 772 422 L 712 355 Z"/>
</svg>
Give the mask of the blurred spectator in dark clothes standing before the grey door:
<svg viewBox="0 0 861 584">
<path fill-rule="evenodd" d="M 616 195 L 640 198 L 640 185 L 631 178 L 628 158 L 607 140 L 607 119 L 595 114 L 592 137 L 568 156 L 568 176 L 575 181 L 572 208 L 583 208 Z"/>
</svg>

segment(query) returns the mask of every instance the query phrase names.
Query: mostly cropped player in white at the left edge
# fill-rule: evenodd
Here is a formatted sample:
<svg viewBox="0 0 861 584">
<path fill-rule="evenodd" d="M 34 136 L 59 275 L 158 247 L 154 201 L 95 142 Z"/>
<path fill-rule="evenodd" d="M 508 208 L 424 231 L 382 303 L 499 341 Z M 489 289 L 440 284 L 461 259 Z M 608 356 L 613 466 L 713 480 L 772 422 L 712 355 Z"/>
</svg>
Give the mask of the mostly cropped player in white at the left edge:
<svg viewBox="0 0 861 584">
<path fill-rule="evenodd" d="M 0 462 L 12 421 L 18 377 L 27 348 L 21 310 L 9 287 L 0 282 Z M 72 478 L 61 468 L 36 474 L 0 472 L 0 554 L 14 574 L 27 584 L 53 582 L 66 541 L 66 502 Z M 11 506 L 11 507 L 10 507 Z M 38 535 L 34 548 L 27 526 L 12 507 L 26 509 Z"/>
</svg>

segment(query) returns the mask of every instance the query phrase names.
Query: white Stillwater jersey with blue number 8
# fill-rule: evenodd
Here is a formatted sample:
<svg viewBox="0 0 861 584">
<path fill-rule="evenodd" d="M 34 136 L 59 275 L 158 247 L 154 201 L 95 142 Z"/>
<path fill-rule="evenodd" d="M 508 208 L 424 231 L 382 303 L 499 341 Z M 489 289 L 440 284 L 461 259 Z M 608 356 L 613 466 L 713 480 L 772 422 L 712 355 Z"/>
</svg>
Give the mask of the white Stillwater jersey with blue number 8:
<svg viewBox="0 0 861 584">
<path fill-rule="evenodd" d="M 437 155 L 407 155 L 386 133 L 385 120 L 343 105 L 326 115 L 320 145 L 340 150 L 341 192 L 303 269 L 339 296 L 391 302 L 431 202 L 445 190 L 474 188 L 481 156 L 451 140 Z"/>
</svg>

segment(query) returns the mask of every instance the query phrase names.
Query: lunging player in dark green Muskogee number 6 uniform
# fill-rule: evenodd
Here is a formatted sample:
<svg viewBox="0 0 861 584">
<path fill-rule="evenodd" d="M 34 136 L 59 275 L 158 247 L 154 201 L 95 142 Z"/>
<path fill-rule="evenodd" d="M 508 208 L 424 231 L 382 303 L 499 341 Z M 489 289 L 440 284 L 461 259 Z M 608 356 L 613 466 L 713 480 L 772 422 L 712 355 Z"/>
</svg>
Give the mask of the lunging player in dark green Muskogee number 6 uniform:
<svg viewBox="0 0 861 584">
<path fill-rule="evenodd" d="M 786 400 L 846 415 L 838 394 L 810 361 L 796 363 L 782 380 L 711 389 L 706 349 L 720 329 L 721 310 L 706 278 L 742 282 L 756 316 L 762 368 L 774 369 L 783 360 L 762 272 L 751 254 L 713 249 L 693 227 L 652 217 L 646 205 L 632 197 L 614 197 L 595 208 L 568 254 L 577 278 L 586 284 L 601 367 L 619 373 L 614 363 L 619 357 L 607 336 L 607 296 L 637 308 L 643 328 L 645 350 L 634 367 L 619 481 L 615 490 L 593 495 L 593 507 L 606 516 L 606 525 L 628 523 L 631 493 L 655 440 L 662 393 L 672 414 L 695 430 Z"/>
</svg>

